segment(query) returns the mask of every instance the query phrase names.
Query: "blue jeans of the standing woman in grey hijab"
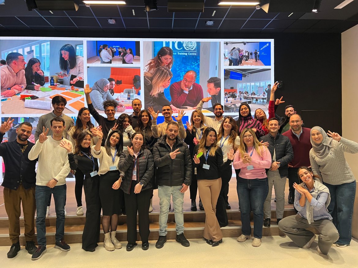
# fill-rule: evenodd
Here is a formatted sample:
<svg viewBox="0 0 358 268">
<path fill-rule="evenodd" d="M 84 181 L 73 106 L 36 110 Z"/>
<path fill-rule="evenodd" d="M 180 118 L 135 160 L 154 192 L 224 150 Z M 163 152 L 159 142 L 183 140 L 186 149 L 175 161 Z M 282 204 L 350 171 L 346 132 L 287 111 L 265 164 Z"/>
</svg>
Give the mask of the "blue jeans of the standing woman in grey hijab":
<svg viewBox="0 0 358 268">
<path fill-rule="evenodd" d="M 323 183 L 329 189 L 331 203 L 328 213 L 333 217 L 333 224 L 339 233 L 336 243 L 349 245 L 352 239 L 352 215 L 356 182 L 332 185 Z"/>
</svg>

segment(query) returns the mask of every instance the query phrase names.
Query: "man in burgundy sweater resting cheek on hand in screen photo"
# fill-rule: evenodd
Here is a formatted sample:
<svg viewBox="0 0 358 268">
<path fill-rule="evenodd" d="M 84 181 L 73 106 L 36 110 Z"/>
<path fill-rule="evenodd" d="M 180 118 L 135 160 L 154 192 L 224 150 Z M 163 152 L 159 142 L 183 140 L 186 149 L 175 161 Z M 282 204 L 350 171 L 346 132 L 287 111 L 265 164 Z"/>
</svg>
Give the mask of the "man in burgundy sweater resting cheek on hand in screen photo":
<svg viewBox="0 0 358 268">
<path fill-rule="evenodd" d="M 193 70 L 187 71 L 184 74 L 182 81 L 175 82 L 170 85 L 171 104 L 176 108 L 182 106 L 195 107 L 199 101 L 204 97 L 203 88 L 195 83 L 197 73 Z"/>
</svg>

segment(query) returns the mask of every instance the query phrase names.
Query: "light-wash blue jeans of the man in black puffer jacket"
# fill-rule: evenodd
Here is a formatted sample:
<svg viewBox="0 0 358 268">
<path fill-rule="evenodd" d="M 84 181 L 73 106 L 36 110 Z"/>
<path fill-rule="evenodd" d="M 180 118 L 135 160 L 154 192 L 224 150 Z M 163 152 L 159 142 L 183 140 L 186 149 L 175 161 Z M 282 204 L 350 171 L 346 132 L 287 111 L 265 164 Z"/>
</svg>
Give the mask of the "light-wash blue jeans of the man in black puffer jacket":
<svg viewBox="0 0 358 268">
<path fill-rule="evenodd" d="M 174 217 L 175 217 L 175 230 L 176 234 L 184 233 L 184 193 L 180 193 L 183 186 L 159 186 L 158 197 L 160 205 L 159 213 L 159 235 L 166 235 L 166 222 L 168 221 L 168 212 L 170 206 L 170 196 L 173 197 Z"/>
</svg>

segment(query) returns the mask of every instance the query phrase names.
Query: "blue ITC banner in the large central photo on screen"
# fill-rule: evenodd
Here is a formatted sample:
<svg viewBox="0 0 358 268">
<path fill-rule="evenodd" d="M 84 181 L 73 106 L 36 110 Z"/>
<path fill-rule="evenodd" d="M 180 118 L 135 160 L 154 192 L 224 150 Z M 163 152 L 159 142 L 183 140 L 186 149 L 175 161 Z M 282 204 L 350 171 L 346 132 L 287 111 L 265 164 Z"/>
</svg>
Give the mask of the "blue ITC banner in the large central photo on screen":
<svg viewBox="0 0 358 268">
<path fill-rule="evenodd" d="M 193 70 L 197 73 L 197 81 L 199 81 L 199 70 L 200 70 L 200 42 L 195 41 L 155 41 L 154 42 L 154 55 L 156 56 L 158 51 L 163 46 L 169 46 L 173 49 L 173 67 L 171 72 L 173 73 L 173 78 L 171 78 L 170 84 L 173 84 L 177 81 L 183 79 L 184 74 Z M 169 87 L 164 89 L 165 98 L 171 101 Z M 183 121 L 184 122 L 184 121 Z"/>
</svg>

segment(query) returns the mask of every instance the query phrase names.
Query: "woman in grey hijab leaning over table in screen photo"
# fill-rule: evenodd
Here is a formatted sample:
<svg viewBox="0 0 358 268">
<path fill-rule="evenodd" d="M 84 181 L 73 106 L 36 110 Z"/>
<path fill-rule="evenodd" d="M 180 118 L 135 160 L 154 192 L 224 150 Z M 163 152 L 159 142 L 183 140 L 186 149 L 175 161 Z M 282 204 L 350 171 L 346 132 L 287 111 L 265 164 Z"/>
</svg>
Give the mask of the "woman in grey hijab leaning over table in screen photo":
<svg viewBox="0 0 358 268">
<path fill-rule="evenodd" d="M 113 103 L 117 104 L 118 106 L 123 106 L 121 103 L 118 104 L 118 101 L 113 98 L 109 89 L 110 81 L 108 81 L 108 79 L 106 78 L 101 78 L 100 80 L 96 81 L 95 84 L 92 86 L 92 91 L 91 93 L 89 93 L 89 96 L 91 96 L 93 107 L 95 107 L 95 109 L 104 111 L 103 101 L 106 100 L 113 101 Z M 119 109 L 119 111 L 123 110 Z"/>
</svg>

